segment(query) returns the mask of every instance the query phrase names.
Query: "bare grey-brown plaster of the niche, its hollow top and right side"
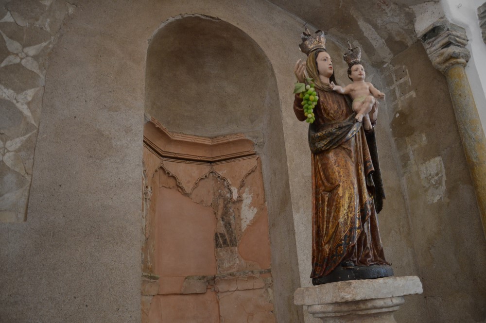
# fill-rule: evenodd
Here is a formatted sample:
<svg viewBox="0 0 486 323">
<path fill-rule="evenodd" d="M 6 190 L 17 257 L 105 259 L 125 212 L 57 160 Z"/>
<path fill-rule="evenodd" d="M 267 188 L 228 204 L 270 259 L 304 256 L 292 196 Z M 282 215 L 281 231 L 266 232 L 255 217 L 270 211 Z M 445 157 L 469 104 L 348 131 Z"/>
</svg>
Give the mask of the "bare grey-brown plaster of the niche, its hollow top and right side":
<svg viewBox="0 0 486 323">
<path fill-rule="evenodd" d="M 299 276 L 295 239 L 289 239 L 294 222 L 280 99 L 274 70 L 260 46 L 216 18 L 188 15 L 167 20 L 149 42 L 145 114 L 150 119 L 145 143 L 148 129 L 157 124 L 170 136 L 194 144 L 206 142 L 203 137 L 211 143 L 236 136 L 251 140 L 253 154 L 261 158 L 275 316 L 278 322 L 299 322 L 298 309 L 289 306 Z M 174 156 L 182 158 L 179 153 Z"/>
</svg>

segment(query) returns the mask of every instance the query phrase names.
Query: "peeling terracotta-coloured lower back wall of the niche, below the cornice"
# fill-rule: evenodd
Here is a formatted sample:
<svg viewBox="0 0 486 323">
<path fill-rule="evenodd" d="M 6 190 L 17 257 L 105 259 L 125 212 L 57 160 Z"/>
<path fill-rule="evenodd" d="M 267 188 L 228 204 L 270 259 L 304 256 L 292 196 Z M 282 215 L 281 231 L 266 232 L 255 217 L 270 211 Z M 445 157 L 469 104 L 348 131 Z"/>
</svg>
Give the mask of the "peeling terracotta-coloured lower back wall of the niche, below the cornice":
<svg viewBox="0 0 486 323">
<path fill-rule="evenodd" d="M 150 139 L 145 134 L 153 144 Z M 142 297 L 142 322 L 276 322 L 260 158 L 171 160 L 146 146 L 144 187 L 151 187 L 143 248 L 150 273 L 144 273 L 142 295 L 152 298 Z M 204 308 L 213 313 L 199 315 L 194 309 L 208 302 L 193 295 L 214 291 L 214 305 Z M 177 313 L 183 305 L 191 309 Z"/>
</svg>

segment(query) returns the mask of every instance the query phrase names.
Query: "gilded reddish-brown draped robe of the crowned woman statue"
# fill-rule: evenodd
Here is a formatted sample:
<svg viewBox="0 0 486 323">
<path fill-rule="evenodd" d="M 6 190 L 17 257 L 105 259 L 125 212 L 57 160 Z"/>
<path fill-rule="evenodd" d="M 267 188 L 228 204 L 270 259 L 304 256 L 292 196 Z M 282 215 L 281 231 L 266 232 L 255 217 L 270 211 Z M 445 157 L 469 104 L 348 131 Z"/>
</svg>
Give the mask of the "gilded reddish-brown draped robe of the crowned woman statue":
<svg viewBox="0 0 486 323">
<path fill-rule="evenodd" d="M 319 102 L 314 108 L 315 122 L 309 129 L 311 278 L 328 275 L 343 261 L 355 266 L 388 265 L 374 203 L 376 193 L 382 190 L 375 189 L 375 169 L 362 124 L 354 119 L 345 96 L 317 88 L 316 91 Z M 304 121 L 301 102 L 296 96 L 294 112 L 297 119 Z"/>
</svg>

